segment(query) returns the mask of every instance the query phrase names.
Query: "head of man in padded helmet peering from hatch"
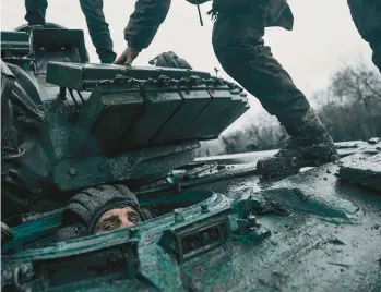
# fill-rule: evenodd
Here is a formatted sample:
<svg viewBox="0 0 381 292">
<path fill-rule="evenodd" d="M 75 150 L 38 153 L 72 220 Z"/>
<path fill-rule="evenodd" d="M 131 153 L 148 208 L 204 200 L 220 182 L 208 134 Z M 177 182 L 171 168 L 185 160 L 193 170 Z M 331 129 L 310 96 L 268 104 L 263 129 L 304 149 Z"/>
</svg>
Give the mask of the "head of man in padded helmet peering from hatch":
<svg viewBox="0 0 381 292">
<path fill-rule="evenodd" d="M 136 196 L 124 185 L 99 185 L 81 191 L 63 211 L 64 226 L 84 226 L 87 235 L 131 227 L 147 219 Z"/>
</svg>

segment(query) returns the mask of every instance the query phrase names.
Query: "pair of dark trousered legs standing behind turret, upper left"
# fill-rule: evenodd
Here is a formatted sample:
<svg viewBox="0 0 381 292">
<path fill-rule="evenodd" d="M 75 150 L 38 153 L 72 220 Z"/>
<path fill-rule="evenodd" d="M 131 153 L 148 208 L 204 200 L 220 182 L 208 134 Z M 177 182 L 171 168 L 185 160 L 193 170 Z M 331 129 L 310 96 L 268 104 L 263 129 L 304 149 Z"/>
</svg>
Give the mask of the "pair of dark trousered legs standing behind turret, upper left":
<svg viewBox="0 0 381 292">
<path fill-rule="evenodd" d="M 103 0 L 80 0 L 81 9 L 86 17 L 88 33 L 102 63 L 112 63 L 116 53 L 112 50 L 112 40 L 108 23 L 103 12 Z M 29 26 L 46 25 L 45 14 L 47 0 L 25 0 L 25 20 Z"/>
</svg>

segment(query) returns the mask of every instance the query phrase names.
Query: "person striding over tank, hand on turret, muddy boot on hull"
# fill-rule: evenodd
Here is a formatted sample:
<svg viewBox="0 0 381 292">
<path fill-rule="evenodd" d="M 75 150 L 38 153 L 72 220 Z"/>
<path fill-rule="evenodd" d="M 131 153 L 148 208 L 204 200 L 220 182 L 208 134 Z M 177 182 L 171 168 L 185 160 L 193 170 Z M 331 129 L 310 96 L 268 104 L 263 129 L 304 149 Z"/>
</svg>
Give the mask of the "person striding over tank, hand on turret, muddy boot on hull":
<svg viewBox="0 0 381 292">
<path fill-rule="evenodd" d="M 203 3 L 207 0 L 188 0 Z M 171 0 L 138 0 L 124 28 L 127 49 L 117 64 L 131 65 L 152 42 L 166 19 Z M 214 0 L 213 47 L 224 70 L 264 109 L 276 115 L 291 138 L 274 157 L 258 162 L 264 175 L 297 172 L 301 167 L 319 166 L 338 158 L 325 127 L 305 95 L 264 46 L 265 27 L 293 28 L 293 13 L 285 0 Z"/>
</svg>

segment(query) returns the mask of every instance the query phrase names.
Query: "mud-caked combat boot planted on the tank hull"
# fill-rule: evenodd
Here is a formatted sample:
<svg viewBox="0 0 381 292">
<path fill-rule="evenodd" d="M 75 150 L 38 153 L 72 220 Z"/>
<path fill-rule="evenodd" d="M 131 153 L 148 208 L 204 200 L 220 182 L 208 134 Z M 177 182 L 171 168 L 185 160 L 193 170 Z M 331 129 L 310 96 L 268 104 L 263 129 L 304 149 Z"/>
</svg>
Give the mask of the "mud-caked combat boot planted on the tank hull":
<svg viewBox="0 0 381 292">
<path fill-rule="evenodd" d="M 275 156 L 258 161 L 259 174 L 288 175 L 303 167 L 317 167 L 338 159 L 331 136 L 312 109 L 283 124 L 291 138 Z"/>
</svg>

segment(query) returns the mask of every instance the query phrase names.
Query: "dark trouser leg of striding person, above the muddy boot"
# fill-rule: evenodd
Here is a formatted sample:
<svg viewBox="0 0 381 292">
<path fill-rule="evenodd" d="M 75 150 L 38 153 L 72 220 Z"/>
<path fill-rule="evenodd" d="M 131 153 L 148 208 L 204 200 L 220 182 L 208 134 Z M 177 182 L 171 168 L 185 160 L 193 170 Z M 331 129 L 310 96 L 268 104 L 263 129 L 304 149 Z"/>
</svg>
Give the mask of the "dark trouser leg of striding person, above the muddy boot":
<svg viewBox="0 0 381 292">
<path fill-rule="evenodd" d="M 289 74 L 264 46 L 265 16 L 258 9 L 218 11 L 213 47 L 222 66 L 255 96 L 281 123 L 306 114 L 310 105 Z"/>
</svg>

